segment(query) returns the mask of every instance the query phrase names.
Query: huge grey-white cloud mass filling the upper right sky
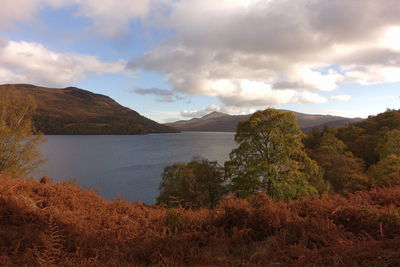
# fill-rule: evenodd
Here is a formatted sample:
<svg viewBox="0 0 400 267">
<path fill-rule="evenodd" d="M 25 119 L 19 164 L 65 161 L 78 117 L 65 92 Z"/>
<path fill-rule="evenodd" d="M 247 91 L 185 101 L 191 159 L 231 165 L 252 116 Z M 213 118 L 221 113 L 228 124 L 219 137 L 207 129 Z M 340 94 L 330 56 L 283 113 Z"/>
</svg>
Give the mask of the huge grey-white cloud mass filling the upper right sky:
<svg viewBox="0 0 400 267">
<path fill-rule="evenodd" d="M 158 18 L 175 35 L 130 69 L 226 106 L 324 103 L 342 83 L 400 81 L 396 0 L 176 0 Z"/>
</svg>

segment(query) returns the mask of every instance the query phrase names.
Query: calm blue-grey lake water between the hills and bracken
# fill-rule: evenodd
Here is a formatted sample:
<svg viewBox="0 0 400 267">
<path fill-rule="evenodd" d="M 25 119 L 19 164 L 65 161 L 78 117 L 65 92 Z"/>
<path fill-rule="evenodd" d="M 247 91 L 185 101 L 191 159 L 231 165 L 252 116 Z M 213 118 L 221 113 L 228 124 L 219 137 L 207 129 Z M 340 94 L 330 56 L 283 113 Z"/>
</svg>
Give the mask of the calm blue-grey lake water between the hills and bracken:
<svg viewBox="0 0 400 267">
<path fill-rule="evenodd" d="M 47 162 L 36 176 L 75 179 L 110 199 L 153 204 L 165 166 L 194 156 L 223 164 L 236 147 L 234 133 L 183 132 L 150 135 L 46 136 L 41 151 Z"/>
</svg>

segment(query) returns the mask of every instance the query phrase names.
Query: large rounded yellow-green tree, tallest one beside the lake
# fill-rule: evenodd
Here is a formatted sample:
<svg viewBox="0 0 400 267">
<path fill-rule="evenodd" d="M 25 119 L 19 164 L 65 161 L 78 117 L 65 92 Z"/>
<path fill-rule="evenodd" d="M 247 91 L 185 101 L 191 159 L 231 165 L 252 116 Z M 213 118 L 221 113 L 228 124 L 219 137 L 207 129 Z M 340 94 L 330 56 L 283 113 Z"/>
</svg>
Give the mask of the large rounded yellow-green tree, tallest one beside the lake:
<svg viewBox="0 0 400 267">
<path fill-rule="evenodd" d="M 267 109 L 240 122 L 239 146 L 225 163 L 230 190 L 239 197 L 266 192 L 287 199 L 323 192 L 320 169 L 304 152 L 302 138 L 291 112 Z"/>
</svg>

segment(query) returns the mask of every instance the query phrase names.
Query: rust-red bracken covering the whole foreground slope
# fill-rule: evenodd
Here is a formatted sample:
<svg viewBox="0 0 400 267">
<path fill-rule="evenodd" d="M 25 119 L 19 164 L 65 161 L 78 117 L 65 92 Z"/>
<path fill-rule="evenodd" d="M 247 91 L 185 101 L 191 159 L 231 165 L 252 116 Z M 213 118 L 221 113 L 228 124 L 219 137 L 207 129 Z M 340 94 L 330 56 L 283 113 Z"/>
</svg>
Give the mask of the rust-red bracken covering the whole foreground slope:
<svg viewBox="0 0 400 267">
<path fill-rule="evenodd" d="M 400 187 L 190 210 L 0 181 L 1 266 L 400 265 Z"/>
</svg>

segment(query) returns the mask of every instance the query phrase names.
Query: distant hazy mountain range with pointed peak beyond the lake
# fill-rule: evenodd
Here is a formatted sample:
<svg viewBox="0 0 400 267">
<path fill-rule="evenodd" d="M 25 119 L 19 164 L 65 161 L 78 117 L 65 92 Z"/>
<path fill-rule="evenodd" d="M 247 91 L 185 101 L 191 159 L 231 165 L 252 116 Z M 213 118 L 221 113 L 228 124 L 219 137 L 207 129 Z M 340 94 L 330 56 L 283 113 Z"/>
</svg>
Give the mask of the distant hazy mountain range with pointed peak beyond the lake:
<svg viewBox="0 0 400 267">
<path fill-rule="evenodd" d="M 303 131 L 308 132 L 313 128 L 323 126 L 344 126 L 348 123 L 357 122 L 360 118 L 345 118 L 331 115 L 313 115 L 293 112 L 297 122 Z M 249 119 L 248 115 L 229 115 L 221 112 L 211 112 L 201 118 L 186 121 L 176 121 L 166 125 L 177 128 L 181 131 L 205 131 L 205 132 L 235 132 L 240 121 Z"/>
</svg>

